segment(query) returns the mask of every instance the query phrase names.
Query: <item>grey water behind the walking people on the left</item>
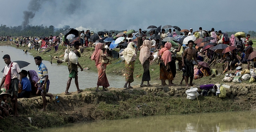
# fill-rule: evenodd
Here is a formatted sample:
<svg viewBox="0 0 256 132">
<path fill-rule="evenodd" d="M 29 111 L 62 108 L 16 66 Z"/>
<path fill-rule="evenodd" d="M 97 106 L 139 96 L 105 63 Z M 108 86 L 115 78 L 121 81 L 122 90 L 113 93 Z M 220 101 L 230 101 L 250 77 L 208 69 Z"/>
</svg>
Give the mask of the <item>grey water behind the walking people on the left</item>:
<svg viewBox="0 0 256 132">
<path fill-rule="evenodd" d="M 38 66 L 36 66 L 34 62 L 34 57 L 31 56 L 29 53 L 24 54 L 22 50 L 13 48 L 11 46 L 0 46 L 1 59 L 2 59 L 2 56 L 4 56 L 4 54 L 9 54 L 12 61 L 23 60 L 30 63 L 30 65 L 22 69 L 37 71 Z M 2 70 L 4 66 L 6 66 L 6 64 L 4 63 L 4 60 L 1 60 L 1 59 L 0 59 L 0 70 Z M 48 74 L 50 79 L 49 92 L 53 94 L 60 94 L 64 92 L 66 89 L 66 82 L 68 80 L 68 74 L 69 74 L 68 67 L 57 65 L 55 63 L 50 64 L 50 62 L 48 61 L 42 61 L 42 62 L 48 68 Z M 0 73 L 1 78 L 2 78 L 2 75 L 3 73 L 1 72 Z M 110 87 L 122 88 L 124 86 L 125 78 L 123 76 L 107 74 L 107 78 L 108 78 Z M 98 73 L 96 72 L 91 72 L 90 70 L 84 70 L 83 72 L 78 72 L 78 84 L 80 86 L 80 89 L 96 87 L 97 80 L 98 80 Z M 140 81 L 141 81 L 140 79 L 134 78 L 134 82 L 132 82 L 132 85 L 138 85 L 140 84 Z M 75 91 L 76 91 L 76 85 L 73 79 L 70 85 L 69 92 L 75 92 Z"/>
</svg>

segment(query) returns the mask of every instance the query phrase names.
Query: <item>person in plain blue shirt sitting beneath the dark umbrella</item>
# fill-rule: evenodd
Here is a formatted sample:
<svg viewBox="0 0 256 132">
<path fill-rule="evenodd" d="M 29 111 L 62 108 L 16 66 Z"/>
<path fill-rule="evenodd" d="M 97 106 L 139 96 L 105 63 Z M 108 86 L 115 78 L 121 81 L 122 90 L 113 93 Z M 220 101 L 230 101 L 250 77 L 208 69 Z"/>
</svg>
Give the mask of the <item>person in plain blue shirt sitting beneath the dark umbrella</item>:
<svg viewBox="0 0 256 132">
<path fill-rule="evenodd" d="M 21 85 L 22 85 L 22 91 L 18 94 L 18 98 L 29 98 L 31 89 L 31 83 L 28 80 L 28 72 L 26 70 L 21 71 Z M 20 91 L 20 90 L 19 90 Z"/>
</svg>

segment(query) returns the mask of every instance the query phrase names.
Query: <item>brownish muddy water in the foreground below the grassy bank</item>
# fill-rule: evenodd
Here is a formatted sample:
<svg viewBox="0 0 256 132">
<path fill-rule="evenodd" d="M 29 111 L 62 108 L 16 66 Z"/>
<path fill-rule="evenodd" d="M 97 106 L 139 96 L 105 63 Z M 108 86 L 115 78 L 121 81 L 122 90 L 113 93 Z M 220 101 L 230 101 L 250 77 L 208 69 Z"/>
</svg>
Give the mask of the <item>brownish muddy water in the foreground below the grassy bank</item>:
<svg viewBox="0 0 256 132">
<path fill-rule="evenodd" d="M 69 124 L 45 132 L 255 132 L 256 113 L 222 112 L 170 116 L 148 116 Z"/>
</svg>

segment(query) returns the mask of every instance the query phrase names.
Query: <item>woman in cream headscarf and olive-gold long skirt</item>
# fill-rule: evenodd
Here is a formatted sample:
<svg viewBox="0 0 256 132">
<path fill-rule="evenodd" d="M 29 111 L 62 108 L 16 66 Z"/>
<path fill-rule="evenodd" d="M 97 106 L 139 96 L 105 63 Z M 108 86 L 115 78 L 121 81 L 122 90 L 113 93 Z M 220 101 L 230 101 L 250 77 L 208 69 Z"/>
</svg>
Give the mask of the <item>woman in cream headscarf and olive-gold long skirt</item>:
<svg viewBox="0 0 256 132">
<path fill-rule="evenodd" d="M 124 90 L 128 90 L 131 87 L 131 83 L 133 80 L 133 71 L 134 71 L 134 62 L 136 60 L 136 50 L 134 49 L 134 42 L 130 42 L 127 46 L 127 48 L 124 49 L 122 53 L 120 53 L 121 56 L 124 56 L 125 59 L 125 84 L 124 84 Z M 128 84 L 128 87 L 127 87 Z"/>
</svg>

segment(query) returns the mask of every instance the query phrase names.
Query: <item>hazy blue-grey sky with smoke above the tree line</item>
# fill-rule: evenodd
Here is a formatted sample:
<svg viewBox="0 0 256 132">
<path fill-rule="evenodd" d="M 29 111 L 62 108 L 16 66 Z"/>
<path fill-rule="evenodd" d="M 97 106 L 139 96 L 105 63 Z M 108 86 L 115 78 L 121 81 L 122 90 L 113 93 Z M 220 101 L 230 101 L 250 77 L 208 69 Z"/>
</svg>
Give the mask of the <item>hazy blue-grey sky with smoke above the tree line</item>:
<svg viewBox="0 0 256 132">
<path fill-rule="evenodd" d="M 256 27 L 250 25 L 256 22 L 256 0 L 1 0 L 1 5 L 0 24 L 6 26 L 28 23 L 80 30 L 146 30 L 150 25 L 168 24 L 210 30 L 226 24 L 231 31 Z M 29 22 L 24 21 L 24 12 L 34 17 L 27 15 Z M 251 20 L 250 24 L 236 24 L 245 20 Z"/>
</svg>

